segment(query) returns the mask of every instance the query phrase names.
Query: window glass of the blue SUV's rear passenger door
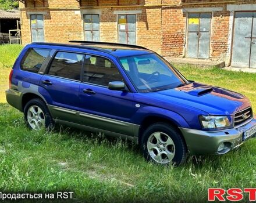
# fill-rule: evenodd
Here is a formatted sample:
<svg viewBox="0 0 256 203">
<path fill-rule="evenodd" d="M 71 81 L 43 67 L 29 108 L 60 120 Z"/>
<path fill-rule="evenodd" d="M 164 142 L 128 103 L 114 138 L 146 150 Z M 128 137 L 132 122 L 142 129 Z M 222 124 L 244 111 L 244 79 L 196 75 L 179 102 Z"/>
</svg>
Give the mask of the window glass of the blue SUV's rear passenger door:
<svg viewBox="0 0 256 203">
<path fill-rule="evenodd" d="M 48 75 L 80 81 L 84 55 L 79 53 L 58 52 L 52 61 Z"/>
</svg>

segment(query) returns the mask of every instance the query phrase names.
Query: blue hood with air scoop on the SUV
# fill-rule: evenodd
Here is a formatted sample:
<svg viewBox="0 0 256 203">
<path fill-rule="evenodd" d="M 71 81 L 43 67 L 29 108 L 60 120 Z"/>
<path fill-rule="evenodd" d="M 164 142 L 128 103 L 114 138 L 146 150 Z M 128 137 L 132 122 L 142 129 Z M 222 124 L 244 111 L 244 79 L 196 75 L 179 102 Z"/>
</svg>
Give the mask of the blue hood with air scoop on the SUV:
<svg viewBox="0 0 256 203">
<path fill-rule="evenodd" d="M 152 96 L 152 94 L 155 95 Z M 157 98 L 159 101 L 165 101 L 165 106 L 169 109 L 172 107 L 172 103 L 179 103 L 184 107 L 197 108 L 210 115 L 232 115 L 251 106 L 247 97 L 240 93 L 197 82 L 180 88 L 152 92 L 148 96 Z"/>
</svg>

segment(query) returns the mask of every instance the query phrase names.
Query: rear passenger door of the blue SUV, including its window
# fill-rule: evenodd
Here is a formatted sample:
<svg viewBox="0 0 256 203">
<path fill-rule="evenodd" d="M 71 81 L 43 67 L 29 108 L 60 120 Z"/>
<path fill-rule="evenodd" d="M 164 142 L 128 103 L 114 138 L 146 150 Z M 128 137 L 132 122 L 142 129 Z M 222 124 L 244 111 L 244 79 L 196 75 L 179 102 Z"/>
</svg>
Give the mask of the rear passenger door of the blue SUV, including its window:
<svg viewBox="0 0 256 203">
<path fill-rule="evenodd" d="M 84 55 L 59 51 L 40 81 L 55 119 L 79 121 L 79 86 Z"/>
</svg>

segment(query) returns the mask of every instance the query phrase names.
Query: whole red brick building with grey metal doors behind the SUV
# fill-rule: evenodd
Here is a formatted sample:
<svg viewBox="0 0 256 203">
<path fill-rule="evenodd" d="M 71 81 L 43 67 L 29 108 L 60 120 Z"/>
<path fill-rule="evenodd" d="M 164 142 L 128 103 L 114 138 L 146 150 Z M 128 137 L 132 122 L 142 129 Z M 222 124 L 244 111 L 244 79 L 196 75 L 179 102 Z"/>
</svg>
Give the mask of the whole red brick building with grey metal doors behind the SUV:
<svg viewBox="0 0 256 203">
<path fill-rule="evenodd" d="M 20 0 L 23 44 L 137 44 L 164 56 L 256 68 L 255 0 Z"/>
</svg>

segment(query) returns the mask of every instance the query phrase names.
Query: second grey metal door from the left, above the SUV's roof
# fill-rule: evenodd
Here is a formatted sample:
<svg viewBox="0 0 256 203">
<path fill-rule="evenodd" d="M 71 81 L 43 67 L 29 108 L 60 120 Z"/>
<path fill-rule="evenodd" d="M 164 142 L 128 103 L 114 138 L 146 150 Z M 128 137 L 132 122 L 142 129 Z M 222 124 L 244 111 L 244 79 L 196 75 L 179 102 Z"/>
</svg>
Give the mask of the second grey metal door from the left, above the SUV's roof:
<svg viewBox="0 0 256 203">
<path fill-rule="evenodd" d="M 84 40 L 99 42 L 99 15 L 84 15 Z"/>
</svg>

